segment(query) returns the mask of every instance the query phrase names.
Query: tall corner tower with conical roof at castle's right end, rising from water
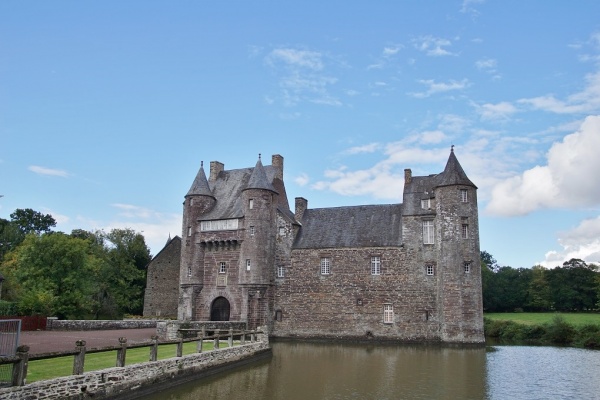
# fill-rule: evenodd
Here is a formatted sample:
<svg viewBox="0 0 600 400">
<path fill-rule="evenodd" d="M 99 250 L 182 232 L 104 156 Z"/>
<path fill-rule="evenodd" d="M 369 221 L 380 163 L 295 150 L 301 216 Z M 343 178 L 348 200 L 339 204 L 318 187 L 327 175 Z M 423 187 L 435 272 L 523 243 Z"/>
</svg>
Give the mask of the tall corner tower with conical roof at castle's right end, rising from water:
<svg viewBox="0 0 600 400">
<path fill-rule="evenodd" d="M 435 177 L 438 315 L 445 342 L 484 342 L 477 187 L 454 154 Z"/>
</svg>

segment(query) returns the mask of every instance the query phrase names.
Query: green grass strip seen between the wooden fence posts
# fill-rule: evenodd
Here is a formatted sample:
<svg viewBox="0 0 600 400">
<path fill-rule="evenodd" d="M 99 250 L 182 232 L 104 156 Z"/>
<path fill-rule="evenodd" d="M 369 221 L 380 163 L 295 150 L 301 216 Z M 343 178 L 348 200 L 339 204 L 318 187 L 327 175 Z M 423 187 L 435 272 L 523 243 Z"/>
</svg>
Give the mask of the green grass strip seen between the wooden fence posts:
<svg viewBox="0 0 600 400">
<path fill-rule="evenodd" d="M 220 348 L 227 347 L 227 341 L 222 340 Z M 202 351 L 213 349 L 212 341 L 204 342 Z M 196 352 L 196 342 L 183 344 L 183 355 Z M 158 346 L 158 359 L 164 360 L 177 355 L 176 344 L 163 344 Z M 125 364 L 132 365 L 150 360 L 150 347 L 138 347 L 127 349 Z M 95 371 L 104 368 L 112 368 L 117 363 L 117 351 L 107 351 L 102 353 L 90 353 L 85 355 L 85 372 Z M 73 373 L 73 356 L 49 358 L 46 360 L 29 361 L 27 367 L 27 382 L 35 382 L 44 379 L 57 378 L 59 376 L 69 376 Z"/>
</svg>

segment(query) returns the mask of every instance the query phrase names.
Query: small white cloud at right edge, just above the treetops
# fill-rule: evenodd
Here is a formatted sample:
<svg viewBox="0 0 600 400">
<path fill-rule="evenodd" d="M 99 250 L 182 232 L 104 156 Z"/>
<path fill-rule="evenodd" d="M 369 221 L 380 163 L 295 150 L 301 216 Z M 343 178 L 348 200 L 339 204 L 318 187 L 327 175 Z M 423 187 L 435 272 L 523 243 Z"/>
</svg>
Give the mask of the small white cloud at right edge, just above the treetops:
<svg viewBox="0 0 600 400">
<path fill-rule="evenodd" d="M 540 265 L 554 268 L 572 258 L 600 264 L 600 216 L 583 220 L 576 228 L 559 233 L 558 243 L 561 250 L 547 252 Z"/>
</svg>

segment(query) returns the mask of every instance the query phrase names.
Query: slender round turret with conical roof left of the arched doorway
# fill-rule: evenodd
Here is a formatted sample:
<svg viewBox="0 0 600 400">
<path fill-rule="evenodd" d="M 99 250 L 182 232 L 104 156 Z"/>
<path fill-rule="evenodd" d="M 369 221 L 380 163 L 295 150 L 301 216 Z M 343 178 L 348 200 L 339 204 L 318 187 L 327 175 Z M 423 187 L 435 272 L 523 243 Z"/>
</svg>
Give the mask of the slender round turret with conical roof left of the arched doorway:
<svg viewBox="0 0 600 400">
<path fill-rule="evenodd" d="M 182 246 L 180 262 L 180 291 L 178 319 L 191 320 L 194 304 L 203 287 L 204 246 L 197 243 L 200 232 L 199 219 L 215 205 L 216 199 L 210 190 L 204 164 L 192 183 L 183 202 Z"/>
</svg>

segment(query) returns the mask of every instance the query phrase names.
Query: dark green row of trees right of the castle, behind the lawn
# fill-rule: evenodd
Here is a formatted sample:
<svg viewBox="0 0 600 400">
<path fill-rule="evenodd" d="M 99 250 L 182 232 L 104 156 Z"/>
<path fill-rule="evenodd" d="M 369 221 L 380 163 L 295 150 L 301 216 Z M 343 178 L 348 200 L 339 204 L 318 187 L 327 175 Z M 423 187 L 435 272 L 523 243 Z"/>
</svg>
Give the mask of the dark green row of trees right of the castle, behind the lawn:
<svg viewBox="0 0 600 400">
<path fill-rule="evenodd" d="M 592 311 L 600 308 L 600 269 L 573 258 L 556 268 L 498 266 L 481 252 L 483 310 Z"/>
</svg>

